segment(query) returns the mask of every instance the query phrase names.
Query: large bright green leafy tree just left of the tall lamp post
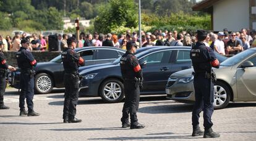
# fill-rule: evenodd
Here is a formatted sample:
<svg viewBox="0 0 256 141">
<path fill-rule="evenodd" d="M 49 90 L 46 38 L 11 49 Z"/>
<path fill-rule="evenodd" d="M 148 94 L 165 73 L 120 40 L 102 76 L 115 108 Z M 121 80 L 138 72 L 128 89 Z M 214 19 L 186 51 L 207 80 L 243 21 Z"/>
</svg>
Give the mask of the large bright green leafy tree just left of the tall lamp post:
<svg viewBox="0 0 256 141">
<path fill-rule="evenodd" d="M 135 28 L 137 23 L 137 8 L 134 1 L 110 0 L 109 4 L 100 7 L 94 26 L 100 33 L 109 33 L 118 26 Z"/>
</svg>

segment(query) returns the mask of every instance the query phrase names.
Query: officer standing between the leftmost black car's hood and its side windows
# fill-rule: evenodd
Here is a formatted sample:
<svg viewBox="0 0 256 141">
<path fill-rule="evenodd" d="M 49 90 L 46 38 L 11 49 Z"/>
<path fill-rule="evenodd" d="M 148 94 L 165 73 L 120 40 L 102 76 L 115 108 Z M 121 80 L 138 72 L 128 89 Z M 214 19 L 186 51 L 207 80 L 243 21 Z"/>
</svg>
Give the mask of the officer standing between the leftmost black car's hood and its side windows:
<svg viewBox="0 0 256 141">
<path fill-rule="evenodd" d="M 80 123 L 81 119 L 75 118 L 77 101 L 79 98 L 79 66 L 84 66 L 82 57 L 75 52 L 77 41 L 74 37 L 67 39 L 67 46 L 61 52 L 64 66 L 65 100 L 63 108 L 63 123 Z"/>
</svg>

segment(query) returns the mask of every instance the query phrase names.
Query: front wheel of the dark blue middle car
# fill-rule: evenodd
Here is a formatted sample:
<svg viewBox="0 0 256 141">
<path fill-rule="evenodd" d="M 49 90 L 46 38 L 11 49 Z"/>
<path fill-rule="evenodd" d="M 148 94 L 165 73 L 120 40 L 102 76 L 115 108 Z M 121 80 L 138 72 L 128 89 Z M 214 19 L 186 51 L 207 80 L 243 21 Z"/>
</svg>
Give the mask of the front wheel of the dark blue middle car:
<svg viewBox="0 0 256 141">
<path fill-rule="evenodd" d="M 124 85 L 118 79 L 107 79 L 100 86 L 100 96 L 107 103 L 121 102 L 124 99 Z"/>
</svg>

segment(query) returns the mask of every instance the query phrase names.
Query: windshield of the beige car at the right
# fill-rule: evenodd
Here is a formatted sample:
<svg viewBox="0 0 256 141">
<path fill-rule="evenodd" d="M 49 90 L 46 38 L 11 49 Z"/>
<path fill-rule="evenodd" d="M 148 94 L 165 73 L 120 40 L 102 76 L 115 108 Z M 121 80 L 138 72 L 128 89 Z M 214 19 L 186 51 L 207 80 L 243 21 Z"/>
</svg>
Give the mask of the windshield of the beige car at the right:
<svg viewBox="0 0 256 141">
<path fill-rule="evenodd" d="M 225 60 L 224 62 L 222 62 L 220 65 L 221 66 L 233 66 L 236 65 L 237 63 L 241 62 L 242 60 L 244 60 L 244 58 L 252 55 L 255 53 L 255 50 L 252 49 L 247 49 L 237 55 L 234 55 L 233 57 L 228 58 L 227 60 Z"/>
</svg>

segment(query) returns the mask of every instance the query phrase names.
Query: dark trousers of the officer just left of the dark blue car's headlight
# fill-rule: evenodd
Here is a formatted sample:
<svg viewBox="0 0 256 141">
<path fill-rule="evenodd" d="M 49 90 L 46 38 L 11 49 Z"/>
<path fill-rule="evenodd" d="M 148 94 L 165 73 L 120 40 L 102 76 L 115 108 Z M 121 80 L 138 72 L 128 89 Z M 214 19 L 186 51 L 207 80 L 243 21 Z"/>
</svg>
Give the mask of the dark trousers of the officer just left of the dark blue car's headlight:
<svg viewBox="0 0 256 141">
<path fill-rule="evenodd" d="M 76 106 L 79 98 L 79 77 L 75 74 L 65 73 L 64 75 L 65 85 L 65 100 L 63 108 L 63 119 L 75 118 Z"/>
</svg>

